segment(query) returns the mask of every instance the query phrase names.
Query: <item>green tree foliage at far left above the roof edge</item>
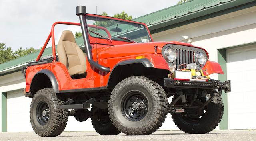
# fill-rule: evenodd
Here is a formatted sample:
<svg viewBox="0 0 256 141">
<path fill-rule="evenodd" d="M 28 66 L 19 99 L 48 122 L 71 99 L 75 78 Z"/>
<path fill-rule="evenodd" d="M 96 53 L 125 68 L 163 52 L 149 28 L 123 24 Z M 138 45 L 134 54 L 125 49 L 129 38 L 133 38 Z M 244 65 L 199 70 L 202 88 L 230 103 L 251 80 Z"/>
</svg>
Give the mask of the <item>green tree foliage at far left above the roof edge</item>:
<svg viewBox="0 0 256 141">
<path fill-rule="evenodd" d="M 10 61 L 12 59 L 16 59 L 18 57 L 22 57 L 28 55 L 30 53 L 34 53 L 39 49 L 34 49 L 33 47 L 23 49 L 20 47 L 16 51 L 13 51 L 11 47 L 7 47 L 5 43 L 0 43 L 0 64 Z"/>
</svg>

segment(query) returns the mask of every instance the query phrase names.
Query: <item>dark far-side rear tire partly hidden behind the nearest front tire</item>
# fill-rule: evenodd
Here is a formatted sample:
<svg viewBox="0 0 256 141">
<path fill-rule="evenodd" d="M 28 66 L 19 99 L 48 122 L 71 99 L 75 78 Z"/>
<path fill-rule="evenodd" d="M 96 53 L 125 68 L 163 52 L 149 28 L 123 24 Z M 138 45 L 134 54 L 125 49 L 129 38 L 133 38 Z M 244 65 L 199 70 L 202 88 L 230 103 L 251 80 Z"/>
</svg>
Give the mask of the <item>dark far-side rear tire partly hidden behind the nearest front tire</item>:
<svg viewBox="0 0 256 141">
<path fill-rule="evenodd" d="M 92 106 L 92 111 L 94 111 L 94 106 Z M 113 125 L 112 121 L 109 118 L 108 110 L 100 110 L 102 113 L 100 113 L 104 118 L 106 119 L 97 119 L 97 118 L 91 118 L 93 128 L 97 133 L 100 135 L 118 135 L 121 133 L 116 129 L 116 127 Z M 102 121 L 104 120 L 104 121 Z"/>
</svg>

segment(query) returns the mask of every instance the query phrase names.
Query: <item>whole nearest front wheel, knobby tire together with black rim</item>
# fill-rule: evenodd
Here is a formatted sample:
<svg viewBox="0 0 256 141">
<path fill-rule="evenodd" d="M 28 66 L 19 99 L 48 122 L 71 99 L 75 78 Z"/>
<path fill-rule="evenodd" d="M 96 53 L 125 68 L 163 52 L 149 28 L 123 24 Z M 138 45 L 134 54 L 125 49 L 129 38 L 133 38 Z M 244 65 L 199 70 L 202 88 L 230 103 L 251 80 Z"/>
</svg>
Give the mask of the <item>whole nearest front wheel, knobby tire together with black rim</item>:
<svg viewBox="0 0 256 141">
<path fill-rule="evenodd" d="M 144 76 L 132 76 L 119 82 L 111 92 L 108 111 L 119 131 L 149 135 L 165 121 L 168 100 L 159 84 Z"/>
</svg>

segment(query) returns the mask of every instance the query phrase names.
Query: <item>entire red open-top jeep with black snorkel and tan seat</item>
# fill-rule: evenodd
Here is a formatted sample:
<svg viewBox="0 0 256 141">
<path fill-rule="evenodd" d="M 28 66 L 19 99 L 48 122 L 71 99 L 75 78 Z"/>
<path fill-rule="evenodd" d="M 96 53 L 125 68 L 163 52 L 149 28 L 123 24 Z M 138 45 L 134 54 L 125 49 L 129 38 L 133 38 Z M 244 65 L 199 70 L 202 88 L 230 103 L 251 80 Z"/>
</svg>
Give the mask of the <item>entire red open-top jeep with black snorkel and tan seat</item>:
<svg viewBox="0 0 256 141">
<path fill-rule="evenodd" d="M 68 116 L 80 122 L 90 117 L 101 135 L 149 135 L 168 113 L 191 134 L 208 133 L 220 123 L 221 94 L 230 92 L 230 81 L 210 79 L 224 72 L 205 49 L 153 42 L 146 24 L 87 14 L 85 6 L 77 6 L 76 15 L 80 23 L 54 23 L 36 61 L 22 69 L 36 134 L 60 135 Z M 85 50 L 65 30 L 56 54 L 56 24 L 81 26 Z M 42 59 L 50 39 L 52 56 Z"/>
</svg>

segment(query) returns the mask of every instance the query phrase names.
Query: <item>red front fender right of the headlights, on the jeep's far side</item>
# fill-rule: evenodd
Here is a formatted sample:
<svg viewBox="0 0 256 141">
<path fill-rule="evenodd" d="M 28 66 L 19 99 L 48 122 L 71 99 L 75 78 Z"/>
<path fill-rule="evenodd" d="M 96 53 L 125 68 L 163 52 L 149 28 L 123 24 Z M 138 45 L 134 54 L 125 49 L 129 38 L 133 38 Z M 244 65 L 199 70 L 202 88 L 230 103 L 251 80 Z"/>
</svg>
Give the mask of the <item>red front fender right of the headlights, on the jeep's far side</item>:
<svg viewBox="0 0 256 141">
<path fill-rule="evenodd" d="M 219 63 L 209 60 L 206 62 L 202 70 L 206 72 L 206 75 L 213 73 L 224 74 Z"/>
</svg>

